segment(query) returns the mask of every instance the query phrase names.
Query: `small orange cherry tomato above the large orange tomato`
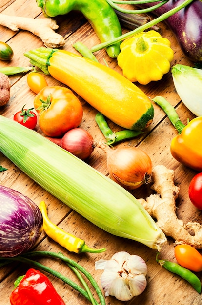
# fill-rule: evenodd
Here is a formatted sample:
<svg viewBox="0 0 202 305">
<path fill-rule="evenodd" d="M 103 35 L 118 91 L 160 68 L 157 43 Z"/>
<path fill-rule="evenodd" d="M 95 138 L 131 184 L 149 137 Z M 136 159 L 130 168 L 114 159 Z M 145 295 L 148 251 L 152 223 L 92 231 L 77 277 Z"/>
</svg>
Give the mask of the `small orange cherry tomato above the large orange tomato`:
<svg viewBox="0 0 202 305">
<path fill-rule="evenodd" d="M 40 92 L 41 89 L 48 86 L 48 83 L 43 74 L 38 72 L 31 72 L 28 74 L 27 84 L 29 88 L 37 94 Z"/>
</svg>

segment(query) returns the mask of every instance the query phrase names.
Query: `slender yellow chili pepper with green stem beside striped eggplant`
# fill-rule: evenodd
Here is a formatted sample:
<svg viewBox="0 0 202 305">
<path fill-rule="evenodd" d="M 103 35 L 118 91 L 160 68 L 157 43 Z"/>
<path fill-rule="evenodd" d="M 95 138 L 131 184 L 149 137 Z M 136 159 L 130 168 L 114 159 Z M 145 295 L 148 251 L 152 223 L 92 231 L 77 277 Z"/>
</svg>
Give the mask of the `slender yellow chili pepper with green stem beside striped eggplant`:
<svg viewBox="0 0 202 305">
<path fill-rule="evenodd" d="M 47 215 L 47 205 L 44 201 L 40 202 L 39 205 L 41 214 L 43 216 L 43 230 L 45 233 L 52 238 L 55 242 L 57 242 L 62 247 L 66 248 L 70 252 L 75 252 L 77 254 L 90 252 L 90 253 L 101 253 L 106 251 L 106 248 L 101 249 L 92 249 L 89 248 L 85 241 L 65 232 L 64 230 L 60 229 L 58 226 L 53 224 Z"/>
</svg>

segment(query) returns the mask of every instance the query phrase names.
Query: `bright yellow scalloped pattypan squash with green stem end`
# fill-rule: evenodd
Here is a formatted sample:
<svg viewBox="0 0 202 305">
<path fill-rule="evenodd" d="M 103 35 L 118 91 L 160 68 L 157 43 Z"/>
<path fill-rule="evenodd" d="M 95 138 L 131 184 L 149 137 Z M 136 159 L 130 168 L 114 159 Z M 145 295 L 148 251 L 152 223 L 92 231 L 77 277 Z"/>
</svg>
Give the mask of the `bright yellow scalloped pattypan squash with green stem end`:
<svg viewBox="0 0 202 305">
<path fill-rule="evenodd" d="M 124 40 L 117 61 L 126 78 L 146 85 L 169 72 L 173 57 L 170 41 L 151 30 Z"/>
</svg>

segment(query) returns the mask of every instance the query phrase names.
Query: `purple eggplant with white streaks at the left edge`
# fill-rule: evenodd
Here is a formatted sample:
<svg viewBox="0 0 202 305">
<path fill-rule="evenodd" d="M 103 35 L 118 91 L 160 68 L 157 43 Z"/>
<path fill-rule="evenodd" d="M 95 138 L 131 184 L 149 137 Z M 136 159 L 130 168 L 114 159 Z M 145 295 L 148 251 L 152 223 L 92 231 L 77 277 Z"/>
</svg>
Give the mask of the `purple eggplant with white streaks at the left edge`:
<svg viewBox="0 0 202 305">
<path fill-rule="evenodd" d="M 31 249 L 42 231 L 38 206 L 13 189 L 0 186 L 0 256 L 14 257 Z"/>
</svg>

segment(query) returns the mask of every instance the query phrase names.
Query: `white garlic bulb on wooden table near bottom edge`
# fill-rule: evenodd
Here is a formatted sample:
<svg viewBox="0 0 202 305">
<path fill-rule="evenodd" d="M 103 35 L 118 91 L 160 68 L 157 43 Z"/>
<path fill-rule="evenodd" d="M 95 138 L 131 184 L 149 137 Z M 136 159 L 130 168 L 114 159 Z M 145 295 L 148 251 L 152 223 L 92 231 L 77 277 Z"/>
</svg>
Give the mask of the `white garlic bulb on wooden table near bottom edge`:
<svg viewBox="0 0 202 305">
<path fill-rule="evenodd" d="M 115 253 L 111 260 L 99 260 L 96 270 L 104 269 L 101 286 L 105 295 L 111 295 L 121 301 L 131 300 L 146 288 L 147 265 L 138 255 L 121 251 Z"/>
</svg>

